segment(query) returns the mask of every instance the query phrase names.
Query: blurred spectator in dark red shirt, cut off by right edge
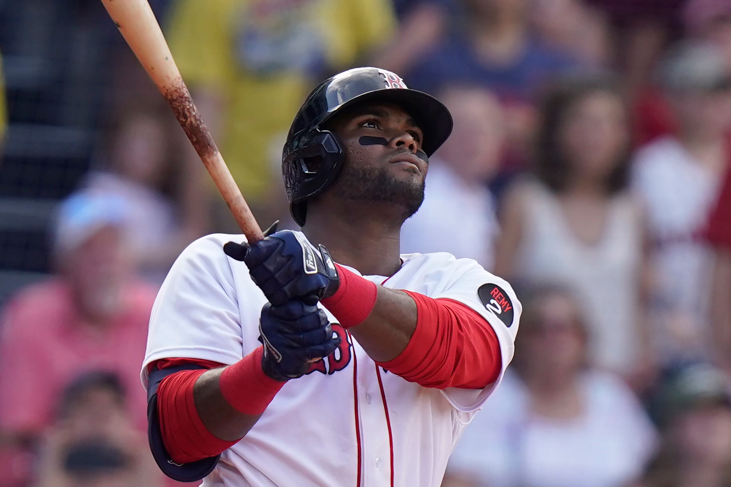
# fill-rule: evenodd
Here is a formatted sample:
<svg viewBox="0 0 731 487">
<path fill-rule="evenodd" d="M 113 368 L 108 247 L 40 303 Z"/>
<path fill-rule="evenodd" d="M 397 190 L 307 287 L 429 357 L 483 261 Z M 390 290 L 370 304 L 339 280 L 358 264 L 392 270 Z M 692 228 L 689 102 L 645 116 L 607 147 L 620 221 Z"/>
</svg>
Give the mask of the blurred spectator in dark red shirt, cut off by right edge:
<svg viewBox="0 0 731 487">
<path fill-rule="evenodd" d="M 711 323 L 713 359 L 731 375 L 731 170 L 708 221 L 708 240 L 716 251 L 713 261 Z"/>
</svg>

